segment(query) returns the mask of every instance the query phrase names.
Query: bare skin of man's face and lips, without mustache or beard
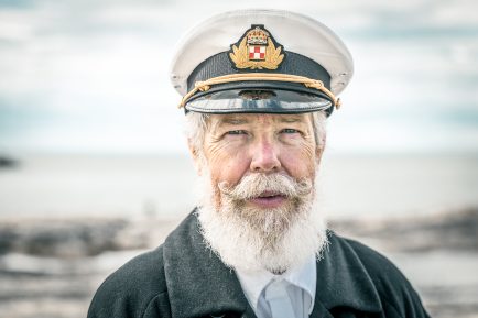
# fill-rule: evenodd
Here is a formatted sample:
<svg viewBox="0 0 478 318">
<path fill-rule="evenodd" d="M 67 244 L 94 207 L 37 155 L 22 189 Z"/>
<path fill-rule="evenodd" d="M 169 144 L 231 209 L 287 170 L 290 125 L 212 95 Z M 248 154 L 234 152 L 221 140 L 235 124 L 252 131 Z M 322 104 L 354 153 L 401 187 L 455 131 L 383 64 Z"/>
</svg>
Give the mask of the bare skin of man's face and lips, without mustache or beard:
<svg viewBox="0 0 478 318">
<path fill-rule="evenodd" d="M 204 156 L 220 209 L 219 185 L 236 186 L 252 174 L 284 175 L 295 180 L 314 180 L 322 151 L 317 149 L 312 116 L 306 114 L 214 114 L 204 141 Z M 291 202 L 275 190 L 248 198 L 246 207 L 275 209 Z"/>
</svg>

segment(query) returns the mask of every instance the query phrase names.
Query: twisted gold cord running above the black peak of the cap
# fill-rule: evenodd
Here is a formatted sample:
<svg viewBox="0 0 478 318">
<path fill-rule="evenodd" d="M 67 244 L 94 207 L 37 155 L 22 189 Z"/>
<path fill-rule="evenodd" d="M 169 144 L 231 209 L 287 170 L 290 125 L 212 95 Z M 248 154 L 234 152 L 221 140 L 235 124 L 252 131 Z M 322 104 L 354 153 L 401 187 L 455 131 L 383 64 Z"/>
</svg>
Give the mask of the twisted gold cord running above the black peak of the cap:
<svg viewBox="0 0 478 318">
<path fill-rule="evenodd" d="M 318 89 L 325 95 L 327 95 L 330 98 L 336 109 L 340 107 L 340 99 L 336 98 L 335 95 L 324 86 L 324 83 L 322 83 L 318 79 L 312 79 L 305 76 L 290 75 L 290 74 L 246 73 L 246 74 L 224 75 L 224 76 L 213 77 L 204 81 L 196 81 L 194 88 L 183 97 L 178 108 L 184 107 L 186 102 L 189 100 L 189 98 L 193 97 L 197 91 L 207 91 L 210 89 L 213 85 L 233 83 L 233 81 L 247 81 L 247 80 L 301 83 L 305 87 Z"/>
</svg>

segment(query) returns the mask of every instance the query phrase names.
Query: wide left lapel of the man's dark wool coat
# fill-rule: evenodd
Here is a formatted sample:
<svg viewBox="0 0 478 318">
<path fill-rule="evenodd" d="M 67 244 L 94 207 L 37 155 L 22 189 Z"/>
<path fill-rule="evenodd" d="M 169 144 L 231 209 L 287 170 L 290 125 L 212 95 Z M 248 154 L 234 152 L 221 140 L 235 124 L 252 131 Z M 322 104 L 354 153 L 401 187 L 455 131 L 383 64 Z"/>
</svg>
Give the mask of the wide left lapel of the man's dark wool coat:
<svg viewBox="0 0 478 318">
<path fill-rule="evenodd" d="M 167 237 L 163 255 L 173 317 L 225 312 L 253 317 L 252 310 L 247 312 L 249 304 L 233 271 L 207 249 L 194 212 Z"/>
</svg>

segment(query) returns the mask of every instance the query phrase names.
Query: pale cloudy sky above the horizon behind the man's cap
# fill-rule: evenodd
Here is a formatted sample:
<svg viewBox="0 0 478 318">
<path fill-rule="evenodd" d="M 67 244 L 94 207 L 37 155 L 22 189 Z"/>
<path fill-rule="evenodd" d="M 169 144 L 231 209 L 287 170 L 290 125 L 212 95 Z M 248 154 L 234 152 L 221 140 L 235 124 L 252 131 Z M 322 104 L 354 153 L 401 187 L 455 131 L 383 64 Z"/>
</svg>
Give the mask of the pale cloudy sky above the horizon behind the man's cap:
<svg viewBox="0 0 478 318">
<path fill-rule="evenodd" d="M 0 155 L 185 153 L 175 44 L 242 8 L 305 13 L 348 46 L 329 151 L 478 153 L 475 0 L 0 0 Z"/>
</svg>

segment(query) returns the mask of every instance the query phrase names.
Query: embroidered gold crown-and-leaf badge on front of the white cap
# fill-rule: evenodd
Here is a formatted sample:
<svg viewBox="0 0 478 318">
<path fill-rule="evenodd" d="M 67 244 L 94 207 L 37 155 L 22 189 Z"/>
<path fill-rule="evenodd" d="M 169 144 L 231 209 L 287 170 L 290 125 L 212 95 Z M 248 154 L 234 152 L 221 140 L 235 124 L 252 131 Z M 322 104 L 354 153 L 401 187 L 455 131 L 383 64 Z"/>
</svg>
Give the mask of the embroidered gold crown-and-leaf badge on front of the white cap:
<svg viewBox="0 0 478 318">
<path fill-rule="evenodd" d="M 251 25 L 239 42 L 231 45 L 229 57 L 238 69 L 276 69 L 284 59 L 282 48 L 264 25 Z"/>
</svg>

